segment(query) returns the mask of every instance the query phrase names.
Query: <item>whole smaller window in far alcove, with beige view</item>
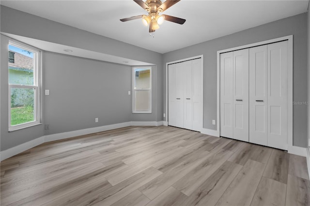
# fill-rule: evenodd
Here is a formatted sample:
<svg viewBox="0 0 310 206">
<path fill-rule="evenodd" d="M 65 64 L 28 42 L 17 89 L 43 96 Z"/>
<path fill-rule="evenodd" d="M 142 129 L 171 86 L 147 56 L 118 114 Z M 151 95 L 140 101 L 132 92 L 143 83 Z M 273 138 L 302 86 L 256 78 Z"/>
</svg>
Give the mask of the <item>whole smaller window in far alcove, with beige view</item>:
<svg viewBox="0 0 310 206">
<path fill-rule="evenodd" d="M 152 113 L 151 67 L 133 68 L 133 113 Z"/>
</svg>

